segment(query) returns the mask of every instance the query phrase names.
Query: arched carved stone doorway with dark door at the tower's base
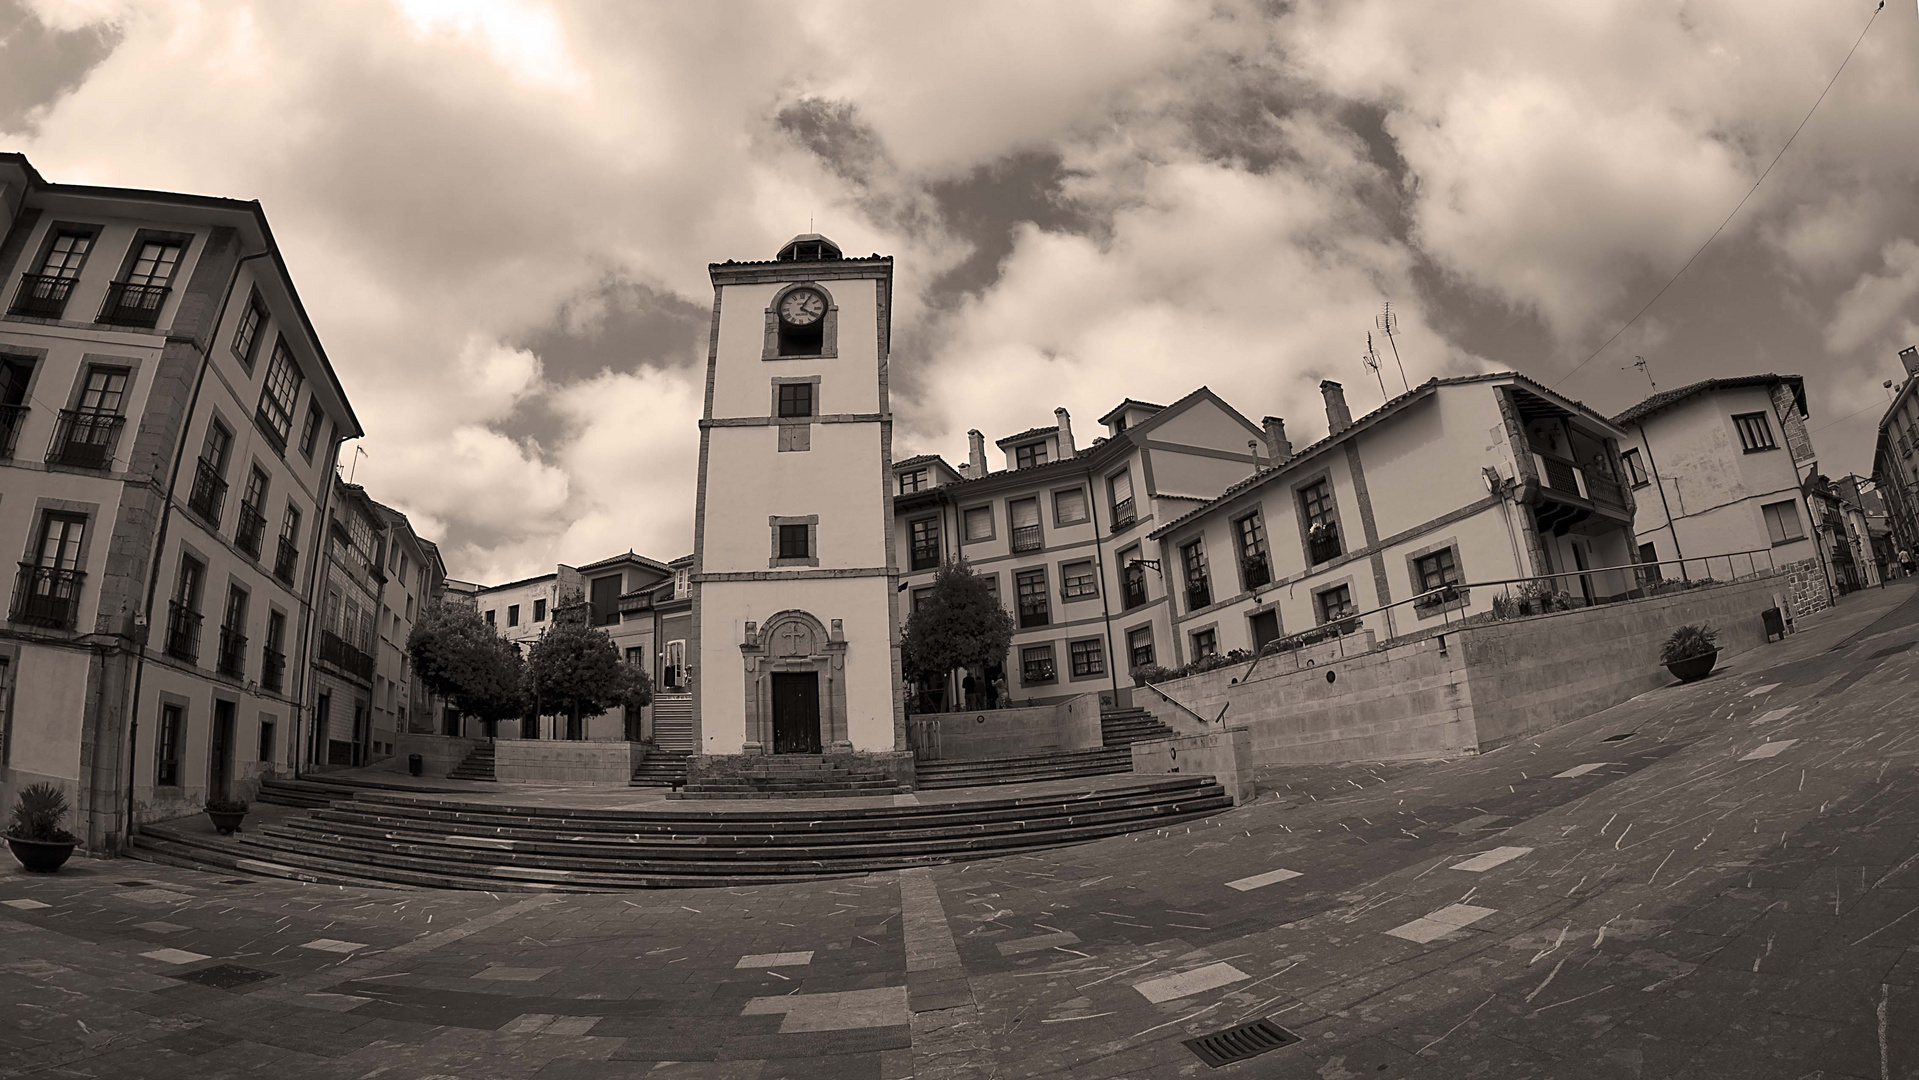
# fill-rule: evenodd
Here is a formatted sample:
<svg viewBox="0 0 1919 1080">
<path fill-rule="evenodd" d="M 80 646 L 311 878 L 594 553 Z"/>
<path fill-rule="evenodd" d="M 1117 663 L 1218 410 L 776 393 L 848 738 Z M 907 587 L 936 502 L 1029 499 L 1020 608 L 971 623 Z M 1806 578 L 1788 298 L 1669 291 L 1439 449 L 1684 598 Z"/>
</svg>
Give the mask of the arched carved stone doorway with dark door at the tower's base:
<svg viewBox="0 0 1919 1080">
<path fill-rule="evenodd" d="M 746 623 L 746 754 L 850 750 L 846 739 L 846 635 L 808 612 Z"/>
</svg>

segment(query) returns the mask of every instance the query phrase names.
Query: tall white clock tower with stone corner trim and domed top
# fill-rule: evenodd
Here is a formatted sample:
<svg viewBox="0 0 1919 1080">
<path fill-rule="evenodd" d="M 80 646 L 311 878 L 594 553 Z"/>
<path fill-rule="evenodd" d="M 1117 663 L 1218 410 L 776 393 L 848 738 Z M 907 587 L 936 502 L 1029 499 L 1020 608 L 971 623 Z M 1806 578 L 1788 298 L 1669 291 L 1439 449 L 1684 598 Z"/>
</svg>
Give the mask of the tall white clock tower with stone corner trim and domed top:
<svg viewBox="0 0 1919 1080">
<path fill-rule="evenodd" d="M 699 752 L 904 750 L 892 259 L 804 234 L 708 272 L 687 643 Z"/>
</svg>

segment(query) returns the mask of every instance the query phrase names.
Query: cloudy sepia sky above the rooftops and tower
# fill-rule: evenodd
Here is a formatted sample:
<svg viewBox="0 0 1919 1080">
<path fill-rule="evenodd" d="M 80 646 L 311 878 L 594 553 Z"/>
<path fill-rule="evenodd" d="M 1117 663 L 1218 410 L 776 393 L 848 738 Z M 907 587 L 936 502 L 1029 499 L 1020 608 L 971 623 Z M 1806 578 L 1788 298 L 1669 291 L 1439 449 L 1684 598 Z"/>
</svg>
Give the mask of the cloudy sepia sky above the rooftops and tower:
<svg viewBox="0 0 1919 1080">
<path fill-rule="evenodd" d="M 898 259 L 900 457 L 1199 384 L 1313 439 L 1320 378 L 1378 405 L 1391 301 L 1412 382 L 1516 368 L 1612 412 L 1635 355 L 1662 387 L 1806 374 L 1821 468 L 1867 472 L 1919 341 L 1909 2 L 1579 364 L 1871 13 L 0 0 L 0 146 L 261 200 L 367 424 L 357 478 L 499 581 L 691 551 L 706 263 L 808 221 Z"/>
</svg>

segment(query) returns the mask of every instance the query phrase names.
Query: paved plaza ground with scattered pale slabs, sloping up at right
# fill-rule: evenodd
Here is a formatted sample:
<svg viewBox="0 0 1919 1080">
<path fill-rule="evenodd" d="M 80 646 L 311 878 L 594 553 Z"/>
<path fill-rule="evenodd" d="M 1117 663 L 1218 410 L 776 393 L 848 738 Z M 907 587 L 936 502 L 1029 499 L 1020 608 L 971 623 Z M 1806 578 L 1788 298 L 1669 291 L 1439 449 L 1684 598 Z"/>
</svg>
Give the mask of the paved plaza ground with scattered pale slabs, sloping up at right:
<svg viewBox="0 0 1919 1080">
<path fill-rule="evenodd" d="M 0 875 L 0 1076 L 1919 1078 L 1919 597 L 1495 754 L 793 886 Z M 1301 1042 L 1211 1068 L 1184 1040 Z"/>
</svg>

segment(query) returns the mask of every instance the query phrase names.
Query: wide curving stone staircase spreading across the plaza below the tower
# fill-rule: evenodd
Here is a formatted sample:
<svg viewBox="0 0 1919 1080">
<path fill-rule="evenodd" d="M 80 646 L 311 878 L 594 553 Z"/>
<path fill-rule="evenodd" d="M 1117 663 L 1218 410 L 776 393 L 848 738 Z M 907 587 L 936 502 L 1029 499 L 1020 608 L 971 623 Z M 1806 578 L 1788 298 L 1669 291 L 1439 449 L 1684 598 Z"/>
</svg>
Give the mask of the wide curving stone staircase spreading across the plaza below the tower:
<svg viewBox="0 0 1919 1080">
<path fill-rule="evenodd" d="M 1220 813 L 1213 777 L 860 810 L 574 810 L 347 788 L 330 806 L 215 836 L 148 825 L 134 856 L 322 884 L 568 890 L 862 875 L 1080 844 Z"/>
</svg>

